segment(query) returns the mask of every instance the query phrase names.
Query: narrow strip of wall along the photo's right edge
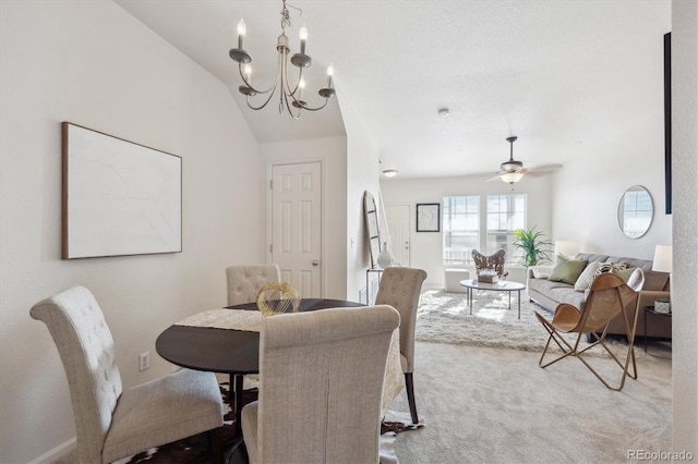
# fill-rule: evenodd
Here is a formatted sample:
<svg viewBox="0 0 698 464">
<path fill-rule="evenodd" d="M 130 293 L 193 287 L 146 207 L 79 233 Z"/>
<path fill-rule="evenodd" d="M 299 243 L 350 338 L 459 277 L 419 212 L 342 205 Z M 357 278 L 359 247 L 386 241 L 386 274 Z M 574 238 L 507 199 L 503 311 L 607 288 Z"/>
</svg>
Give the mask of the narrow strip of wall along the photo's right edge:
<svg viewBox="0 0 698 464">
<path fill-rule="evenodd" d="M 673 450 L 698 455 L 698 4 L 672 1 Z"/>
</svg>

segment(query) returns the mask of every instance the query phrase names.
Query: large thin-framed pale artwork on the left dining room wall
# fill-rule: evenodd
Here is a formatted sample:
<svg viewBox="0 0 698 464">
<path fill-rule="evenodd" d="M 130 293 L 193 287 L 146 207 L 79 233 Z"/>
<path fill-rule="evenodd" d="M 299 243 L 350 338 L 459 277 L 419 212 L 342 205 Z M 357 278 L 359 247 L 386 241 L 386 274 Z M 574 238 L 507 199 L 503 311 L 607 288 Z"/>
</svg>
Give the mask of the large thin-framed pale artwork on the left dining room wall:
<svg viewBox="0 0 698 464">
<path fill-rule="evenodd" d="M 182 251 L 182 159 L 63 122 L 62 258 Z"/>
</svg>

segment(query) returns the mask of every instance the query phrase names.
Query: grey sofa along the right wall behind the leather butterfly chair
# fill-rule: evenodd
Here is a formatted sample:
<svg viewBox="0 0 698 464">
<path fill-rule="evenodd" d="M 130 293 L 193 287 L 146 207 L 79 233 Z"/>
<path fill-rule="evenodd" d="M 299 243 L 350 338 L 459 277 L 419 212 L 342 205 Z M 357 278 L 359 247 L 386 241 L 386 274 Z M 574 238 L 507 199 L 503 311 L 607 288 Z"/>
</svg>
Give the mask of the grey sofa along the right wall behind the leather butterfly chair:
<svg viewBox="0 0 698 464">
<path fill-rule="evenodd" d="M 671 339 L 672 337 L 672 321 L 669 317 L 655 317 L 650 316 L 647 320 L 647 333 L 645 333 L 645 307 L 654 306 L 657 298 L 670 297 L 670 281 L 667 272 L 658 272 L 652 270 L 652 261 L 647 259 L 636 259 L 621 256 L 607 256 L 607 255 L 594 255 L 580 253 L 573 258 L 574 260 L 587 261 L 587 266 L 595 262 L 594 266 L 599 266 L 601 262 L 613 262 L 625 265 L 629 270 L 631 268 L 640 268 L 645 272 L 645 285 L 639 293 L 640 298 L 640 314 L 638 316 L 636 335 L 637 337 L 651 337 L 658 339 Z M 577 308 L 582 307 L 588 291 L 581 290 L 579 281 L 578 288 L 575 289 L 575 284 L 550 280 L 551 273 L 553 273 L 554 266 L 531 266 L 527 270 L 527 291 L 529 300 L 538 303 L 540 306 L 554 312 L 558 304 L 567 303 Z M 629 320 L 634 316 L 636 307 L 636 301 L 633 301 L 625 308 Z M 623 316 L 618 315 L 609 325 L 609 334 L 626 335 L 625 322 Z"/>
</svg>

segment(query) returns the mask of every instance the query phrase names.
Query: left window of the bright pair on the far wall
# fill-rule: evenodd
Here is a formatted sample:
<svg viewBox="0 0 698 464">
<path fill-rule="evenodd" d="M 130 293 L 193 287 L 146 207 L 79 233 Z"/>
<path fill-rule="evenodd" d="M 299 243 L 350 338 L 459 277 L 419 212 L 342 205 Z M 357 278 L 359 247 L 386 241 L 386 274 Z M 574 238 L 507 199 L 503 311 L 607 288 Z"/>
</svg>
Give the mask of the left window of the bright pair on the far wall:
<svg viewBox="0 0 698 464">
<path fill-rule="evenodd" d="M 444 262 L 468 262 L 480 246 L 480 196 L 444 198 Z"/>
</svg>

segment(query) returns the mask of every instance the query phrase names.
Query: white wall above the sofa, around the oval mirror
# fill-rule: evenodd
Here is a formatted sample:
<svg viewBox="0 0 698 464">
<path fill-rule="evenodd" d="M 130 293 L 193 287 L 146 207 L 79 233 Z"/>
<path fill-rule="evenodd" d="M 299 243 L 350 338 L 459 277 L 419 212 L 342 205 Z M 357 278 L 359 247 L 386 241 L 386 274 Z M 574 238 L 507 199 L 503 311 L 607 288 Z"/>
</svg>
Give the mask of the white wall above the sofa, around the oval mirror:
<svg viewBox="0 0 698 464">
<path fill-rule="evenodd" d="M 661 45 L 661 37 L 658 38 Z M 658 51 L 661 63 L 661 50 Z M 664 213 L 663 84 L 646 96 L 650 118 L 630 130 L 577 148 L 553 180 L 553 233 L 578 242 L 586 253 L 652 259 L 654 245 L 669 245 L 672 217 Z M 617 208 L 624 192 L 642 185 L 652 196 L 654 218 L 647 234 L 628 239 L 621 232 Z"/>
</svg>

